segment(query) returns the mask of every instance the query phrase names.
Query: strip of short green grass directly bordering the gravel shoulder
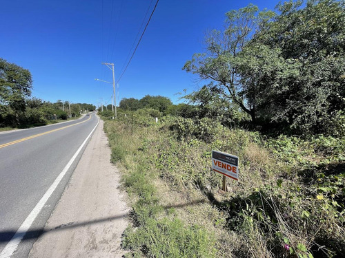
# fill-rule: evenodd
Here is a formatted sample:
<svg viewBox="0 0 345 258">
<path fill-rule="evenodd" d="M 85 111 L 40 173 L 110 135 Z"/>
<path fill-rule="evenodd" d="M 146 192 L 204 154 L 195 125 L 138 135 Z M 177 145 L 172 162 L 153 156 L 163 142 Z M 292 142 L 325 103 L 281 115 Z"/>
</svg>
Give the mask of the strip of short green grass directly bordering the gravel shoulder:
<svg viewBox="0 0 345 258">
<path fill-rule="evenodd" d="M 110 121 L 105 128 L 112 146 L 112 161 L 119 162 L 124 187 L 132 200 L 133 226 L 124 232 L 123 241 L 123 247 L 131 251 L 127 256 L 216 257 L 213 234 L 197 224 L 182 222 L 171 215 L 172 208 L 161 202 L 155 186 L 159 175 L 140 147 L 150 132 Z"/>
</svg>

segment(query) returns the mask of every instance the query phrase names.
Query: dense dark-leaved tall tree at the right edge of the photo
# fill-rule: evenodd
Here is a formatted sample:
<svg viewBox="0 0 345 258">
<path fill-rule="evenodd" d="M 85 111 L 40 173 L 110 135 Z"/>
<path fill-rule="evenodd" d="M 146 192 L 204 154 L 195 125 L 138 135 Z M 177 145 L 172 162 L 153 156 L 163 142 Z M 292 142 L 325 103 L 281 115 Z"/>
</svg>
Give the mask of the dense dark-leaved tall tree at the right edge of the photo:
<svg viewBox="0 0 345 258">
<path fill-rule="evenodd" d="M 344 1 L 335 0 L 311 0 L 304 7 L 302 1 L 285 2 L 277 6 L 276 19 L 255 34 L 253 42 L 279 50 L 286 63 L 280 78 L 246 76 L 251 83 L 261 78 L 266 92 L 274 89 L 259 97 L 272 104 L 273 120 L 286 120 L 301 131 L 326 132 L 331 118 L 345 108 L 344 7 Z M 277 65 L 275 72 L 284 69 Z"/>
</svg>

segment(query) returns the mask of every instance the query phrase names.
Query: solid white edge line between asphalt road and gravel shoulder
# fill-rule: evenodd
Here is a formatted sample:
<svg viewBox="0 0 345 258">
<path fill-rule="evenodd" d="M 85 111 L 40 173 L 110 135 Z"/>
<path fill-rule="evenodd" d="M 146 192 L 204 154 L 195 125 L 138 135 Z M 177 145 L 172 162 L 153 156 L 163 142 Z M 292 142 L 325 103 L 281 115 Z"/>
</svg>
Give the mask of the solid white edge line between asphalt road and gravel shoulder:
<svg viewBox="0 0 345 258">
<path fill-rule="evenodd" d="M 97 125 L 98 124 L 99 124 L 99 120 L 97 122 Z M 23 237 L 28 232 L 30 226 L 34 222 L 34 219 L 36 219 L 37 215 L 39 215 L 41 209 L 43 208 L 43 206 L 48 201 L 50 195 L 52 195 L 52 193 L 55 191 L 55 189 L 57 188 L 57 186 L 61 182 L 63 176 L 68 171 L 68 169 L 70 169 L 70 166 L 72 165 L 72 163 L 77 158 L 77 155 L 80 153 L 81 149 L 83 149 L 83 146 L 88 141 L 88 138 L 90 138 L 90 136 L 92 135 L 93 131 L 95 131 L 97 125 L 94 127 L 94 129 L 92 129 L 91 133 L 88 135 L 88 137 L 80 145 L 80 147 L 77 150 L 77 152 L 75 153 L 75 155 L 73 155 L 73 157 L 70 159 L 70 161 L 66 164 L 65 168 L 58 175 L 57 179 L 55 179 L 55 181 L 52 183 L 52 185 L 49 187 L 49 189 L 43 195 L 41 200 L 39 200 L 39 202 L 36 204 L 36 206 L 34 206 L 34 209 L 31 211 L 31 213 L 28 215 L 28 217 L 26 217 L 26 219 L 24 220 L 23 224 L 21 224 L 21 226 L 19 227 L 17 232 L 14 234 L 14 236 L 11 238 L 11 240 L 8 242 L 8 244 L 5 246 L 5 248 L 0 253 L 0 258 L 9 258 L 9 257 L 12 256 L 13 252 L 15 250 L 17 250 L 17 247 L 18 247 L 19 243 L 21 242 Z"/>
</svg>

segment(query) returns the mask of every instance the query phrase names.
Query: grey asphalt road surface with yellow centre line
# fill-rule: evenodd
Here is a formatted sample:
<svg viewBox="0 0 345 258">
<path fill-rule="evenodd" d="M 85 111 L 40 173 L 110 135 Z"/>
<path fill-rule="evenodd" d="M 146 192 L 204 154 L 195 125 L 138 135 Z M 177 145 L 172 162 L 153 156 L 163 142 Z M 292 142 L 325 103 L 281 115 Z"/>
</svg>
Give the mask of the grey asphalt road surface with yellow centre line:
<svg viewBox="0 0 345 258">
<path fill-rule="evenodd" d="M 0 257 L 32 209 L 75 155 L 98 118 L 0 133 Z M 86 146 L 84 146 L 85 148 Z M 27 257 L 54 209 L 81 153 L 52 192 L 11 257 Z"/>
</svg>

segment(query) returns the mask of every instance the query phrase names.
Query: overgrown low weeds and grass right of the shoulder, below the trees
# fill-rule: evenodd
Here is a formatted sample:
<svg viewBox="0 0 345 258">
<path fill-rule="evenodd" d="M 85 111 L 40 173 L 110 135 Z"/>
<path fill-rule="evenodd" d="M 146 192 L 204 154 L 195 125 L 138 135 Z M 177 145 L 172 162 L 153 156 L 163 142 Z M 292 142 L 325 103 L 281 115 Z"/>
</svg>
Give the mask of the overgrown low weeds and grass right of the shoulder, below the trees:
<svg viewBox="0 0 345 258">
<path fill-rule="evenodd" d="M 123 117 L 106 122 L 106 130 L 133 200 L 133 226 L 124 237 L 130 256 L 345 253 L 344 138 L 264 139 L 209 120 L 170 117 L 159 125 Z M 239 156 L 239 182 L 228 182 L 226 194 L 210 170 L 212 149 Z"/>
</svg>

